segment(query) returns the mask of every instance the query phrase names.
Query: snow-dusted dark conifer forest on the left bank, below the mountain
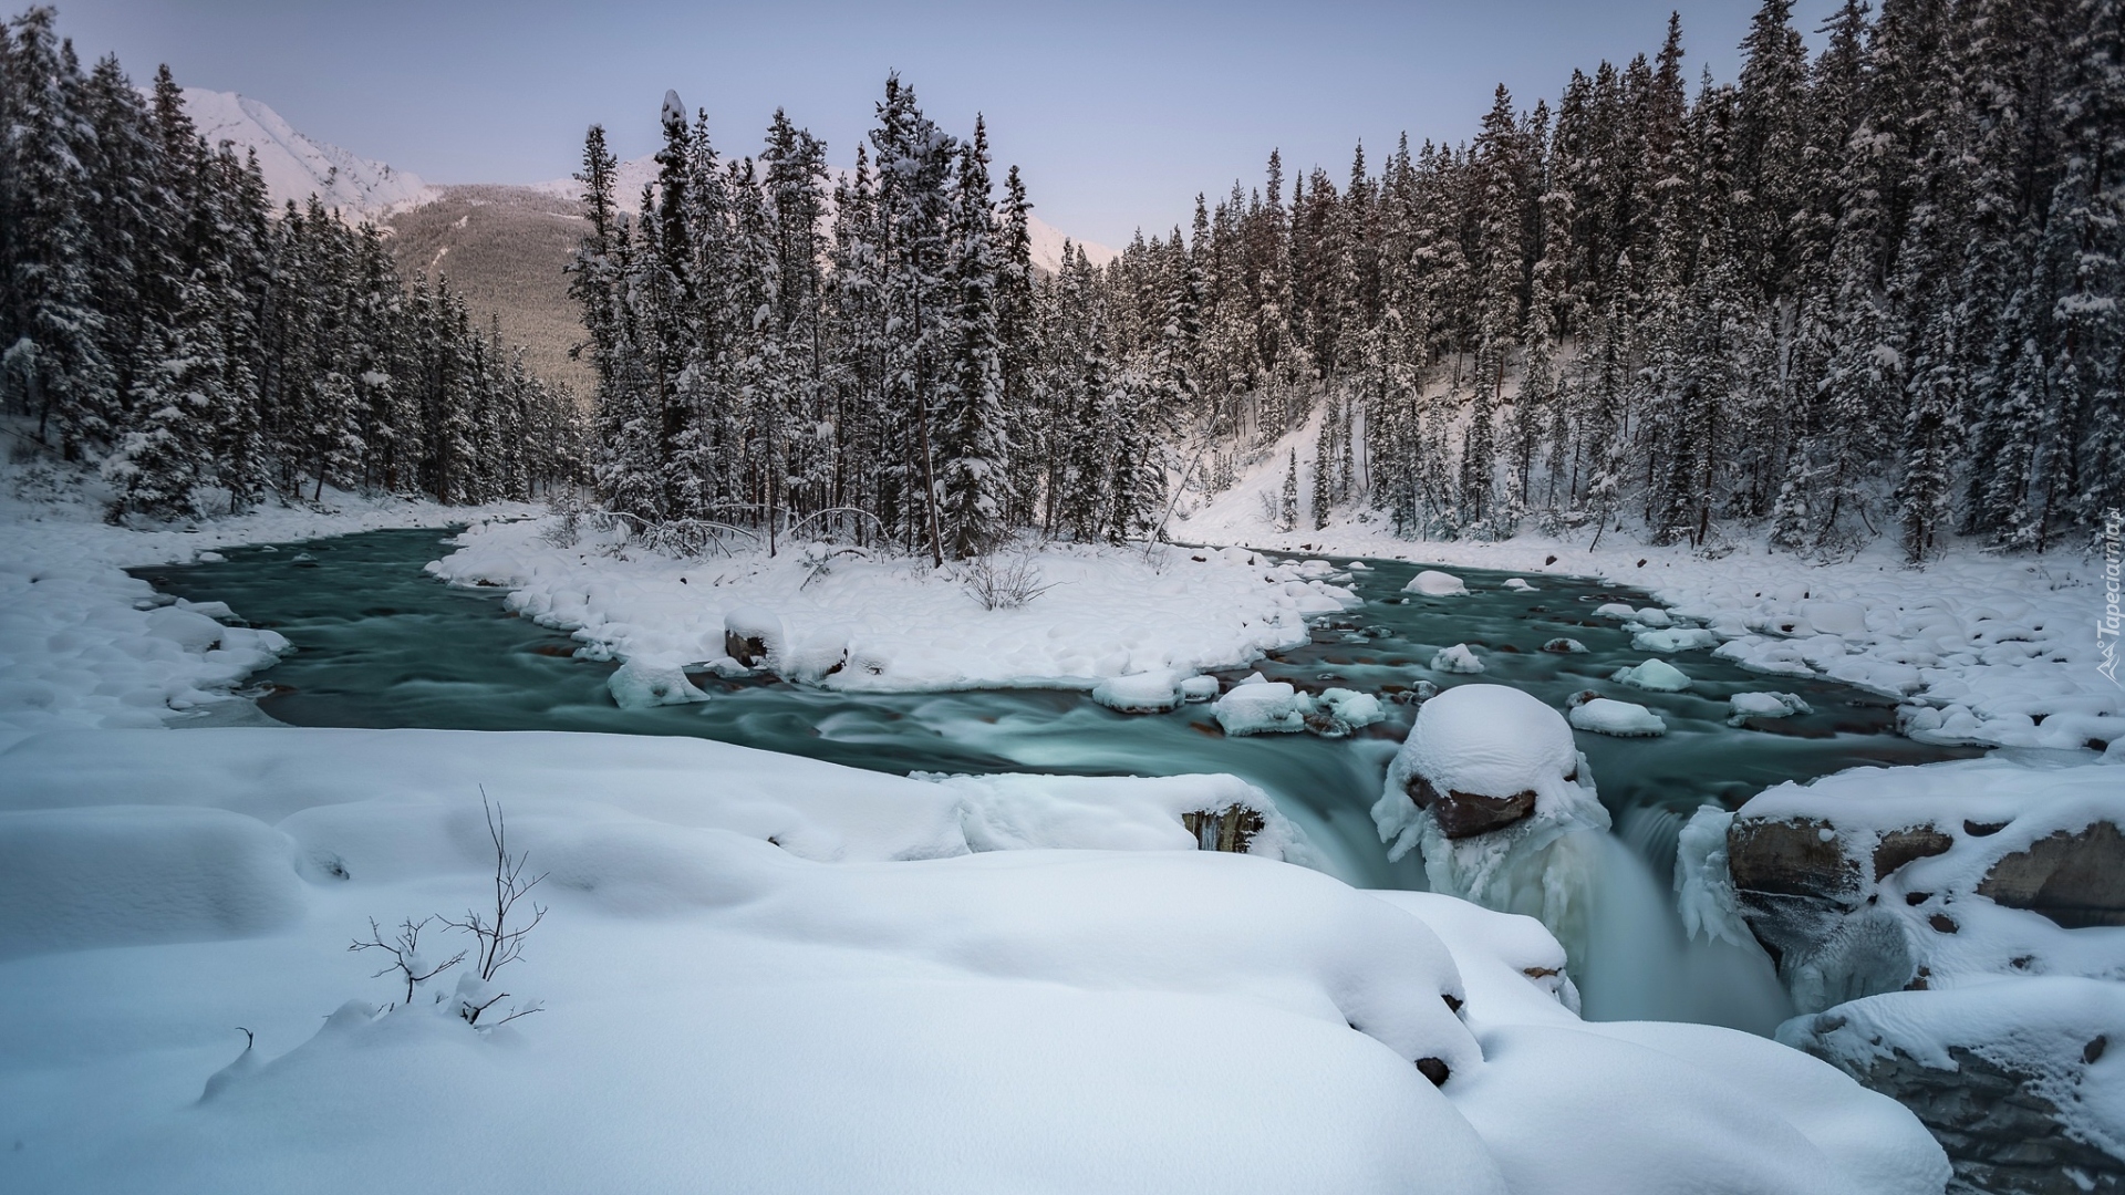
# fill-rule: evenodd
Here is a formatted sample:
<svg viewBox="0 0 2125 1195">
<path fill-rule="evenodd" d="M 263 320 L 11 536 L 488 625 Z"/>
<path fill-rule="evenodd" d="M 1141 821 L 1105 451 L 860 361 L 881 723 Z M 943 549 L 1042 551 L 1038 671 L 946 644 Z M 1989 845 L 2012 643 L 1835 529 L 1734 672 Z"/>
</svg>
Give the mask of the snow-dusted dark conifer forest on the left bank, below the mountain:
<svg viewBox="0 0 2125 1195">
<path fill-rule="evenodd" d="M 0 53 L 0 408 L 98 464 L 113 521 L 238 512 L 325 485 L 533 498 L 582 472 L 576 400 L 376 228 L 274 211 L 168 68 L 83 70 L 51 9 Z"/>
</svg>

